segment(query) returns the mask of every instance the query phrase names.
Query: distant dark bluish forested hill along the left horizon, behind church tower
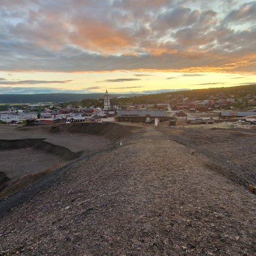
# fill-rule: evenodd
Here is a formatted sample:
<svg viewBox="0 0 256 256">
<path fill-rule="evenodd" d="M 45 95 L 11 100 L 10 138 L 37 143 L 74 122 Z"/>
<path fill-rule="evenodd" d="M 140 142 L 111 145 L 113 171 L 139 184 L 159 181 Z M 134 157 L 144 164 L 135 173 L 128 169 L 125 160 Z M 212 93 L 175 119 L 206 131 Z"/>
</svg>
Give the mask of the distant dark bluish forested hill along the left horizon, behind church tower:
<svg viewBox="0 0 256 256">
<path fill-rule="evenodd" d="M 0 103 L 37 103 L 37 102 L 69 102 L 81 101 L 83 99 L 100 99 L 103 98 L 104 93 L 47 93 L 47 94 L 0 94 Z M 141 95 L 133 94 L 112 94 L 111 98 L 119 96 L 133 97 Z"/>
</svg>

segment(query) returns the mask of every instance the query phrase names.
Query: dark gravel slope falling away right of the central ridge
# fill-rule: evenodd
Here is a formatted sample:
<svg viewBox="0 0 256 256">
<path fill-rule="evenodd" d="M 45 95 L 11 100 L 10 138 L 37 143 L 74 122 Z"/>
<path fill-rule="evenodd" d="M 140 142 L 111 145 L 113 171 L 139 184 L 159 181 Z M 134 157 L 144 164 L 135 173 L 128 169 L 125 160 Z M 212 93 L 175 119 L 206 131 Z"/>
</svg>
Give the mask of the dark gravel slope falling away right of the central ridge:
<svg viewBox="0 0 256 256">
<path fill-rule="evenodd" d="M 238 184 L 256 185 L 256 130 L 164 129 L 166 134 L 211 159 L 213 170 Z"/>
</svg>

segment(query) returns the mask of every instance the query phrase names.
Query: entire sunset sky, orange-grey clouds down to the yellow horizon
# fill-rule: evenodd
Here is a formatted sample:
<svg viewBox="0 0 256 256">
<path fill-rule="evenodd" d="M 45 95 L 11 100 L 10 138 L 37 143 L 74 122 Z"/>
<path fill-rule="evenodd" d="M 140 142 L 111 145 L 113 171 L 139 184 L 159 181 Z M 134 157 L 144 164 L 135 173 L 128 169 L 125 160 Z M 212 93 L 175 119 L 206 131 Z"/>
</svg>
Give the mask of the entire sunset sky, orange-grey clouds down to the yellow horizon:
<svg viewBox="0 0 256 256">
<path fill-rule="evenodd" d="M 0 94 L 256 83 L 256 1 L 0 0 Z"/>
</svg>

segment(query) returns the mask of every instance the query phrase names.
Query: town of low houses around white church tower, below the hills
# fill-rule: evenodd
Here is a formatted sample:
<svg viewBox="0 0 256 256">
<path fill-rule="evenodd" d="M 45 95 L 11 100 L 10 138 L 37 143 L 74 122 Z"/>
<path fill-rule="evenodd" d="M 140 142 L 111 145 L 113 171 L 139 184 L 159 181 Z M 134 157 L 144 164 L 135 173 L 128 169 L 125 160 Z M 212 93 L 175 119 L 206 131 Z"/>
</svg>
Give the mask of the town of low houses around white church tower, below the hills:
<svg viewBox="0 0 256 256">
<path fill-rule="evenodd" d="M 244 86 L 237 86 L 243 87 Z M 254 85 L 255 87 L 255 85 Z M 250 88 L 254 88 L 252 85 Z M 231 87 L 236 88 L 236 87 Z M 208 89 L 209 90 L 209 89 Z M 202 90 L 195 90 L 202 91 Z M 216 91 L 216 89 L 215 89 Z M 74 122 L 129 122 L 171 125 L 213 124 L 236 121 L 256 124 L 256 94 L 241 90 L 230 94 L 219 92 L 188 97 L 191 91 L 173 94 L 152 94 L 139 97 L 114 98 L 106 90 L 102 99 L 79 102 L 24 103 L 0 106 L 0 123 L 10 125 L 54 124 Z M 145 99 L 148 97 L 148 99 Z"/>
</svg>

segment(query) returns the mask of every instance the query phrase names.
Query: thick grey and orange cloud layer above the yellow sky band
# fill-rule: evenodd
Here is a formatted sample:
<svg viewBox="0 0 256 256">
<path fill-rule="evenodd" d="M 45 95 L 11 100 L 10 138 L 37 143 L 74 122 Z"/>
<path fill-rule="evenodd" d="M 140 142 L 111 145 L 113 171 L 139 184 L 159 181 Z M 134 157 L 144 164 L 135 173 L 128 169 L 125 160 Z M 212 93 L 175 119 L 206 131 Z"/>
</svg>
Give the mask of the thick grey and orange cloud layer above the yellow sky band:
<svg viewBox="0 0 256 256">
<path fill-rule="evenodd" d="M 255 73 L 256 2 L 224 2 L 3 0 L 0 70 Z"/>
</svg>

